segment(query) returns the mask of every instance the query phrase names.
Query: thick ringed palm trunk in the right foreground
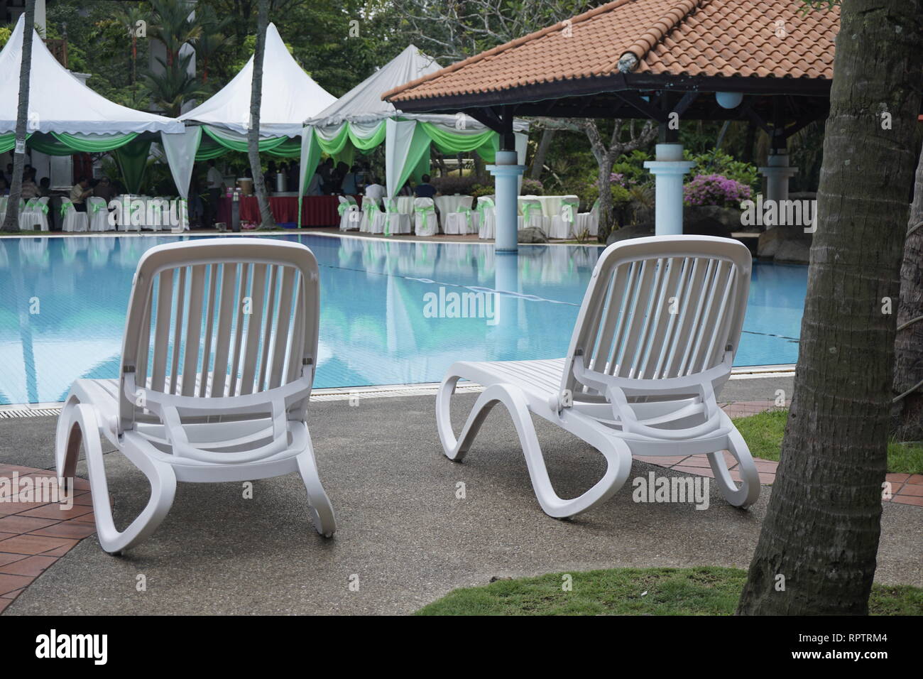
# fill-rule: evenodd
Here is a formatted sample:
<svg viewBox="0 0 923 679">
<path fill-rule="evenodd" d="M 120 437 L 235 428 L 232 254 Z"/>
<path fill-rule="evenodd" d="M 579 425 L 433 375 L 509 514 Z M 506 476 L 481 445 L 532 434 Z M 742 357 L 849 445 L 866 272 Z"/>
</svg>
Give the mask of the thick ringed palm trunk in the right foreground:
<svg viewBox="0 0 923 679">
<path fill-rule="evenodd" d="M 840 7 L 795 394 L 741 614 L 866 614 L 875 574 L 923 0 Z"/>
</svg>

